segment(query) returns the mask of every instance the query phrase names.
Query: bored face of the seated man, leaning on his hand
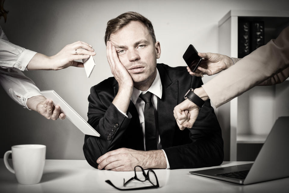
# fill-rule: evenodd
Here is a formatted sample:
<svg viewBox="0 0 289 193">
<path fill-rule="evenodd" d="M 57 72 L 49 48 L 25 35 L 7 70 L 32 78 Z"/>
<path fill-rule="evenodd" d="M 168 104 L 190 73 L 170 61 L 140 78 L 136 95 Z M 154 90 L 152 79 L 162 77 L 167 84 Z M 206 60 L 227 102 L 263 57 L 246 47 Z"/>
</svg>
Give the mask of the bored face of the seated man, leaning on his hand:
<svg viewBox="0 0 289 193">
<path fill-rule="evenodd" d="M 131 21 L 112 33 L 110 41 L 134 83 L 152 83 L 156 76 L 157 58 L 160 57 L 160 43 L 153 42 L 144 24 Z"/>
</svg>

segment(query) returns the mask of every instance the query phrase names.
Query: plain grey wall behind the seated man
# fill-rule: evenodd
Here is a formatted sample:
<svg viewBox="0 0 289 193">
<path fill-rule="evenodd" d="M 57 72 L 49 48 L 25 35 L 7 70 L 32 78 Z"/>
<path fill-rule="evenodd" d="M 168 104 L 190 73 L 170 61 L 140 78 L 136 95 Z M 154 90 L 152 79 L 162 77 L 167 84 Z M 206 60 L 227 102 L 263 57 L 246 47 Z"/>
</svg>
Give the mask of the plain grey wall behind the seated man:
<svg viewBox="0 0 289 193">
<path fill-rule="evenodd" d="M 91 78 L 86 77 L 83 68 L 25 72 L 40 90 L 55 90 L 87 120 L 90 87 L 112 76 L 103 40 L 111 18 L 126 11 L 143 14 L 152 21 L 161 44 L 162 54 L 157 62 L 185 66 L 182 55 L 190 43 L 199 52 L 218 52 L 218 21 L 229 10 L 286 10 L 289 2 L 9 0 L 4 7 L 9 11 L 8 19 L 6 23 L 1 19 L 0 25 L 12 43 L 48 56 L 78 40 L 93 46 L 97 65 Z M 203 81 L 210 78 L 205 76 Z M 84 134 L 69 120 L 46 120 L 14 103 L 2 88 L 0 99 L 0 157 L 12 145 L 45 144 L 47 159 L 84 159 Z"/>
</svg>

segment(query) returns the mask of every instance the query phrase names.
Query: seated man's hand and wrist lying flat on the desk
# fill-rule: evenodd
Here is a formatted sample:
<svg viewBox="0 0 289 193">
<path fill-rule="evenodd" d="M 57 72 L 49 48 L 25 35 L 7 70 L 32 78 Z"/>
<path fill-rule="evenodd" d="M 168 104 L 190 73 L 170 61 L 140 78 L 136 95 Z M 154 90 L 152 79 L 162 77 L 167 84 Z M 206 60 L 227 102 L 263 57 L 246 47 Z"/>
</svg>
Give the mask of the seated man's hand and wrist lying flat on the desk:
<svg viewBox="0 0 289 193">
<path fill-rule="evenodd" d="M 166 168 L 166 158 L 162 150 L 140 151 L 120 148 L 109 151 L 97 159 L 98 169 L 112 171 L 134 171 L 135 166 Z"/>
</svg>

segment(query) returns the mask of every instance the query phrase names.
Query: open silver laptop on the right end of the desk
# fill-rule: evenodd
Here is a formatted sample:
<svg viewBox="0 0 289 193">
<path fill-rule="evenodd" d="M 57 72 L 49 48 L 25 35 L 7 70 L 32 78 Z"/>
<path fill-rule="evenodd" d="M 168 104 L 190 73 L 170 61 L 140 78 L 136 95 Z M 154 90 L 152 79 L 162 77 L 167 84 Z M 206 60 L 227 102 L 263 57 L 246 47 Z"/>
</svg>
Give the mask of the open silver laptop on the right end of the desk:
<svg viewBox="0 0 289 193">
<path fill-rule="evenodd" d="M 279 117 L 254 163 L 190 173 L 234 182 L 252 184 L 289 177 L 289 117 Z"/>
</svg>

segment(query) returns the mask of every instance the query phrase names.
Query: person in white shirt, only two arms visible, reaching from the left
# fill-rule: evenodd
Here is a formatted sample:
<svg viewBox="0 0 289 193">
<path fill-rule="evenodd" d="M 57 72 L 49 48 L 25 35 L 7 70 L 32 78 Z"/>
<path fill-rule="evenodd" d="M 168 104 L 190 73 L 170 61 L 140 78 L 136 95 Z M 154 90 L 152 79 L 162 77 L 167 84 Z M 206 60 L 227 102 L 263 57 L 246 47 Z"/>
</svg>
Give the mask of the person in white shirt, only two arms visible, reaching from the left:
<svg viewBox="0 0 289 193">
<path fill-rule="evenodd" d="M 52 100 L 42 96 L 35 83 L 21 71 L 83 67 L 82 62 L 75 60 L 87 59 L 95 54 L 91 45 L 77 41 L 64 46 L 56 55 L 46 56 L 9 42 L 0 26 L 0 84 L 23 107 L 35 110 L 47 119 L 65 119 L 60 107 L 54 107 Z"/>
</svg>

